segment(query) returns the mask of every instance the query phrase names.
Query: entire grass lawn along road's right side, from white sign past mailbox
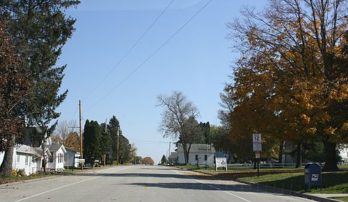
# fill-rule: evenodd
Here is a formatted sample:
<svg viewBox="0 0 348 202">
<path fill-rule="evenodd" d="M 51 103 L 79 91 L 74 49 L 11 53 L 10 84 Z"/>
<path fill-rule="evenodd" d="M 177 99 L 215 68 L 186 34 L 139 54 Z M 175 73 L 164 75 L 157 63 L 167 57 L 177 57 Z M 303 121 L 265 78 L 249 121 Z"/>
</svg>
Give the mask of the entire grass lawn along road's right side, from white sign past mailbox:
<svg viewBox="0 0 348 202">
<path fill-rule="evenodd" d="M 257 171 L 254 169 L 229 169 L 228 171 L 213 169 L 197 169 L 196 166 L 180 166 L 185 169 L 191 169 L 200 173 L 209 174 L 214 177 L 231 180 L 237 178 L 252 183 L 260 183 L 272 187 L 293 190 L 296 192 L 304 192 L 304 169 L 260 169 L 260 177 L 257 177 Z M 323 172 L 322 173 L 322 189 L 312 189 L 311 193 L 327 193 L 327 194 L 348 194 L 348 169 L 347 165 L 339 166 L 341 171 Z M 342 200 L 342 199 L 340 199 Z"/>
</svg>

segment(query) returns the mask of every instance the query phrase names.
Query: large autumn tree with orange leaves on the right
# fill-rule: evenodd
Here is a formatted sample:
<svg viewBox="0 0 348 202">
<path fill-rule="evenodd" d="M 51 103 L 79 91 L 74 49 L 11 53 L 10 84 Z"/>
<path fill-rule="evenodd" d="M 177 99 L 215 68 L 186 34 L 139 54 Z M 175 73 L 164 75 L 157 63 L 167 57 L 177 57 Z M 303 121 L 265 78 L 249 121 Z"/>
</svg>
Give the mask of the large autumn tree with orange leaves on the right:
<svg viewBox="0 0 348 202">
<path fill-rule="evenodd" d="M 271 0 L 228 24 L 241 56 L 226 88 L 232 140 L 323 142 L 324 170 L 338 170 L 336 147 L 348 142 L 346 14 L 342 0 Z"/>
</svg>

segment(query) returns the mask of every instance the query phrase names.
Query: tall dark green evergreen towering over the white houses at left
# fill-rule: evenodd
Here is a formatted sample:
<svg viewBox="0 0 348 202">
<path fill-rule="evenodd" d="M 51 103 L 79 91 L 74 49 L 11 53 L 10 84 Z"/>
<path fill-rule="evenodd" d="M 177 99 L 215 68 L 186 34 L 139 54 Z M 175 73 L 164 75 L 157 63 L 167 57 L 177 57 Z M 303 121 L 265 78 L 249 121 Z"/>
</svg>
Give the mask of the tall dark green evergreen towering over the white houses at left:
<svg viewBox="0 0 348 202">
<path fill-rule="evenodd" d="M 18 106 L 15 117 L 26 116 L 30 126 L 47 128 L 40 133 L 50 135 L 56 124 L 49 123 L 59 117 L 56 108 L 64 101 L 68 90 L 59 94 L 63 80 L 62 67 L 55 67 L 61 50 L 74 31 L 75 19 L 66 17 L 65 10 L 77 6 L 79 1 L 8 0 L 0 1 L 0 18 L 7 22 L 7 31 L 13 39 L 15 53 L 20 56 L 20 69 L 29 76 L 31 89 Z M 42 135 L 41 135 L 42 137 Z M 10 144 L 15 144 L 15 138 Z M 0 173 L 12 164 L 12 155 L 4 160 Z M 45 165 L 45 163 L 44 163 Z"/>
</svg>

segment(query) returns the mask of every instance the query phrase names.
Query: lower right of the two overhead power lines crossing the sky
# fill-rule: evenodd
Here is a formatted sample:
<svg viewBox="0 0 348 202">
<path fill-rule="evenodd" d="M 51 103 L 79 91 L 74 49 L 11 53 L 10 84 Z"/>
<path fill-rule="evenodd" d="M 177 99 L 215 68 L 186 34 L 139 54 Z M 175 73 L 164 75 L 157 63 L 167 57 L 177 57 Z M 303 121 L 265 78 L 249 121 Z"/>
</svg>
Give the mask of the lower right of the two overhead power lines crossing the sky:
<svg viewBox="0 0 348 202">
<path fill-rule="evenodd" d="M 169 37 L 163 44 L 161 44 L 161 46 L 159 46 L 152 54 L 150 54 L 150 56 L 148 56 L 148 58 L 146 58 L 138 67 L 136 67 L 136 69 L 134 69 L 134 71 L 132 71 L 130 74 L 128 74 L 128 76 L 126 76 L 120 83 L 118 83 L 118 85 L 116 85 L 115 87 L 113 87 L 113 89 L 111 89 L 108 93 L 106 93 L 104 96 L 102 96 L 101 99 L 99 99 L 97 102 L 95 102 L 92 106 L 90 106 L 90 108 L 88 108 L 87 110 L 90 110 L 91 108 L 93 108 L 95 105 L 97 105 L 97 103 L 99 103 L 100 101 L 102 101 L 106 96 L 108 96 L 109 94 L 111 94 L 111 92 L 113 92 L 114 90 L 116 90 L 116 88 L 118 88 L 120 85 L 122 85 L 122 83 L 124 83 L 130 76 L 132 76 L 136 71 L 138 71 L 138 69 L 140 69 L 140 67 L 142 67 L 146 62 L 148 62 L 148 60 L 150 60 L 150 58 L 152 58 L 152 56 L 155 56 L 155 54 L 162 48 L 164 47 L 171 39 L 173 39 L 173 37 L 175 35 L 177 35 L 177 33 L 179 33 L 182 28 L 184 28 L 187 24 L 189 24 L 189 22 L 192 21 L 192 19 L 194 17 L 196 17 L 198 15 L 198 13 L 200 13 L 200 11 L 202 11 L 206 6 L 208 6 L 208 4 L 212 2 L 212 0 L 209 0 L 207 3 L 205 3 L 205 5 L 200 8 L 200 10 L 198 10 L 195 15 L 193 15 L 187 22 L 185 22 L 177 31 L 175 31 L 175 33 L 173 33 L 173 35 L 171 35 L 171 37 Z"/>
</svg>

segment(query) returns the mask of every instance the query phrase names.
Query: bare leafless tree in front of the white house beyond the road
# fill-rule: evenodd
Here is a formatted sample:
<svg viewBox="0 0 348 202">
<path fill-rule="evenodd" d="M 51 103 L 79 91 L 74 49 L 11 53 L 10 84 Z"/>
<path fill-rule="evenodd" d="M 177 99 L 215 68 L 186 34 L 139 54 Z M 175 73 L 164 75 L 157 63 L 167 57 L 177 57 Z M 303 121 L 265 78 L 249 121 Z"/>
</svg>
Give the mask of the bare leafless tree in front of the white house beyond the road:
<svg viewBox="0 0 348 202">
<path fill-rule="evenodd" d="M 189 117 L 198 117 L 198 108 L 191 101 L 187 101 L 182 92 L 174 91 L 171 96 L 159 94 L 157 96 L 157 106 L 163 107 L 162 121 L 159 131 L 164 137 L 179 139 L 184 149 L 185 162 L 189 162 L 189 150 L 187 149 L 188 135 L 185 133 L 185 122 Z"/>
</svg>

